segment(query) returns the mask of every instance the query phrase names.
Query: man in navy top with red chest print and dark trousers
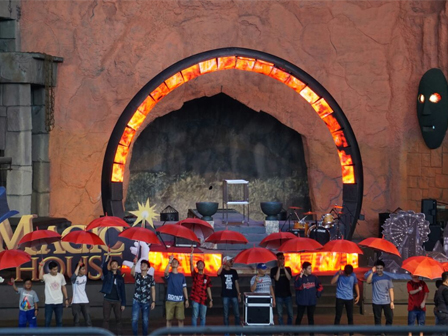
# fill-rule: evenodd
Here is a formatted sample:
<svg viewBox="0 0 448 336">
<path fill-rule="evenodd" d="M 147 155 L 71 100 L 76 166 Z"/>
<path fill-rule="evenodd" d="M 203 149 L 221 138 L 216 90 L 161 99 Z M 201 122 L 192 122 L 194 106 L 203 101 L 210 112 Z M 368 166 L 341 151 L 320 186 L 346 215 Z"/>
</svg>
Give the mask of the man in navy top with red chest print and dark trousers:
<svg viewBox="0 0 448 336">
<path fill-rule="evenodd" d="M 323 287 L 314 274 L 308 261 L 302 264 L 302 270 L 294 281 L 296 289 L 297 318 L 296 325 L 302 324 L 302 318 L 307 312 L 308 325 L 314 325 L 314 311 L 316 310 L 317 298 L 322 295 Z"/>
</svg>

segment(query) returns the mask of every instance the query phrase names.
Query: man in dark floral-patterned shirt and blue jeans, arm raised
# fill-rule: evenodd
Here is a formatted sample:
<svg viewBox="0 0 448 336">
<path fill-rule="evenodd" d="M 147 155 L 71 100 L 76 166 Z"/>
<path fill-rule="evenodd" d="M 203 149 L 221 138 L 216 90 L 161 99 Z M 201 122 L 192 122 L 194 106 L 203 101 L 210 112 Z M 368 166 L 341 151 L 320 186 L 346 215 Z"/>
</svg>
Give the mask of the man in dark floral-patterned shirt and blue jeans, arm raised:
<svg viewBox="0 0 448 336">
<path fill-rule="evenodd" d="M 132 332 L 138 335 L 138 317 L 142 312 L 143 335 L 148 335 L 149 309 L 156 305 L 156 283 L 154 277 L 149 275 L 148 260 L 140 261 L 140 272 L 135 271 L 137 260 L 131 268 L 131 275 L 135 278 L 134 300 L 132 302 Z"/>
</svg>

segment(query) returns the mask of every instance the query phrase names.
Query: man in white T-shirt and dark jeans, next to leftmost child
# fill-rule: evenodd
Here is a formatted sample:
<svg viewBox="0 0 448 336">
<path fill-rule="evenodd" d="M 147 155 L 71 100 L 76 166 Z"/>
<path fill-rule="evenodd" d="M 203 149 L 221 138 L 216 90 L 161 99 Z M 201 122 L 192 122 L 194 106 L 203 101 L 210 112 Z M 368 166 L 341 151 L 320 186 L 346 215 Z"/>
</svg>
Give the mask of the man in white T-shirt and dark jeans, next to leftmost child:
<svg viewBox="0 0 448 336">
<path fill-rule="evenodd" d="M 45 327 L 50 327 L 53 312 L 56 327 L 62 327 L 62 303 L 68 307 L 68 295 L 64 276 L 58 272 L 58 264 L 51 261 L 48 264 L 50 273 L 44 274 L 44 262 L 39 264 L 39 280 L 45 283 Z"/>
</svg>

